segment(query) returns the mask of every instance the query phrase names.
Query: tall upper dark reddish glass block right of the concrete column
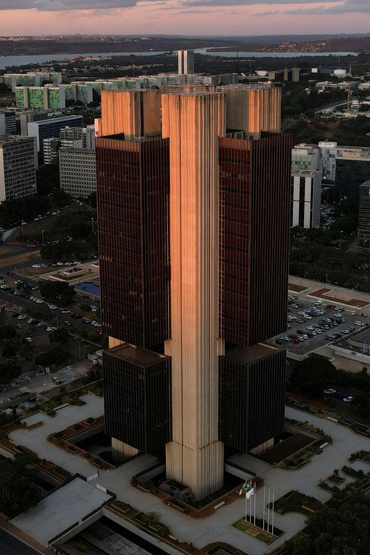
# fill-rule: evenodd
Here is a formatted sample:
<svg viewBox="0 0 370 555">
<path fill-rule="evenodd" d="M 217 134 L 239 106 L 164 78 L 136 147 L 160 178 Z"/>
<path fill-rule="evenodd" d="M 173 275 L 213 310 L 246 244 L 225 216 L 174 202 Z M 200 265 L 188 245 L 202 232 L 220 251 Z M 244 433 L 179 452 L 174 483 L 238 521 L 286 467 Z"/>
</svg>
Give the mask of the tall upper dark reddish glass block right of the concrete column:
<svg viewBox="0 0 370 555">
<path fill-rule="evenodd" d="M 285 331 L 290 135 L 219 139 L 219 327 L 254 345 Z"/>
</svg>

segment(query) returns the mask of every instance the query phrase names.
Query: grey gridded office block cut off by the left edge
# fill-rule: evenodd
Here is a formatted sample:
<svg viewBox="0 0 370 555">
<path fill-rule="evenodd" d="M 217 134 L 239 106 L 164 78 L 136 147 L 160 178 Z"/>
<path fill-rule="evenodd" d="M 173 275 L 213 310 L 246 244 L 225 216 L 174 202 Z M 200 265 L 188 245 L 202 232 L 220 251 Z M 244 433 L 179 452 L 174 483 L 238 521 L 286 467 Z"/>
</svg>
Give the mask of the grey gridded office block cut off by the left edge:
<svg viewBox="0 0 370 555">
<path fill-rule="evenodd" d="M 0 137 L 0 203 L 36 193 L 37 150 L 33 137 Z"/>
</svg>

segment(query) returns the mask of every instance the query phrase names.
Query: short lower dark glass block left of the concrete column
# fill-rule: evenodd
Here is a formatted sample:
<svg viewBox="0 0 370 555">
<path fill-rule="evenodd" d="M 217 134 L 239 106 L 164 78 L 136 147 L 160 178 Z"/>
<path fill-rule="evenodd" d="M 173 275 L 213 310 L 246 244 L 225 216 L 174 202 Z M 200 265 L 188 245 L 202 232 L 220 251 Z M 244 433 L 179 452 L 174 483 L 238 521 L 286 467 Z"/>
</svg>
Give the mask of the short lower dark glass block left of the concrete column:
<svg viewBox="0 0 370 555">
<path fill-rule="evenodd" d="M 143 452 L 171 441 L 171 358 L 124 343 L 103 368 L 107 434 Z"/>
</svg>

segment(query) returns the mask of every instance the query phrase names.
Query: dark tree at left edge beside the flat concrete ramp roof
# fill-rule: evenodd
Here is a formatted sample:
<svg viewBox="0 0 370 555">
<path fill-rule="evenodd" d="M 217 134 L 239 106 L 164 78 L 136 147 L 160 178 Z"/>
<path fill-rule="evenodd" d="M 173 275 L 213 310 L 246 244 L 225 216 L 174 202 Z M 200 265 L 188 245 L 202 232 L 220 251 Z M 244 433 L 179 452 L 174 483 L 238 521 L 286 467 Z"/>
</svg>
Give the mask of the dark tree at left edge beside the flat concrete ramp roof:
<svg viewBox="0 0 370 555">
<path fill-rule="evenodd" d="M 0 511 L 10 518 L 35 506 L 42 497 L 31 463 L 31 456 L 24 454 L 0 459 Z"/>
</svg>

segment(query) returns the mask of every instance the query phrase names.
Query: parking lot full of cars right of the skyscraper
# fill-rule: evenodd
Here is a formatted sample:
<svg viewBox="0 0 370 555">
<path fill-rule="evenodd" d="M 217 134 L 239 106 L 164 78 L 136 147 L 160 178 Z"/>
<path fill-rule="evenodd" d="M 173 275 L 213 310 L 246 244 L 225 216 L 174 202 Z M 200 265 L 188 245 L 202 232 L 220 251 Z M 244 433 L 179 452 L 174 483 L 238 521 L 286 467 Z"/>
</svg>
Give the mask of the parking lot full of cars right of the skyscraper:
<svg viewBox="0 0 370 555">
<path fill-rule="evenodd" d="M 359 311 L 325 302 L 316 305 L 315 302 L 295 295 L 289 297 L 287 332 L 276 336 L 277 347 L 286 348 L 296 355 L 307 355 L 358 332 L 367 322 Z"/>
</svg>

